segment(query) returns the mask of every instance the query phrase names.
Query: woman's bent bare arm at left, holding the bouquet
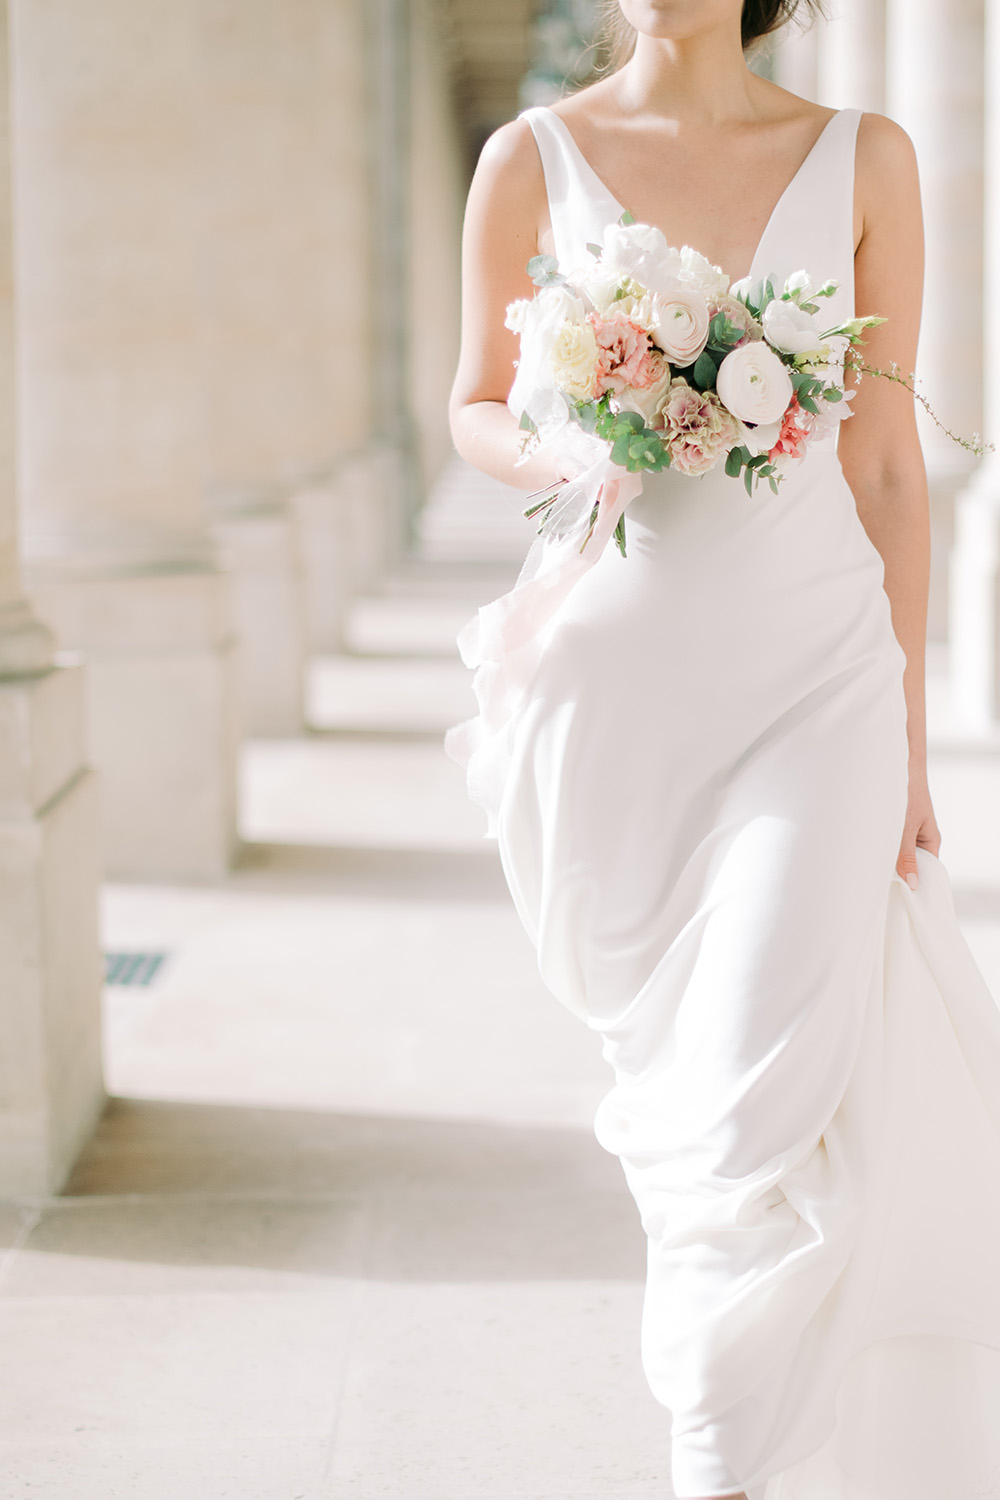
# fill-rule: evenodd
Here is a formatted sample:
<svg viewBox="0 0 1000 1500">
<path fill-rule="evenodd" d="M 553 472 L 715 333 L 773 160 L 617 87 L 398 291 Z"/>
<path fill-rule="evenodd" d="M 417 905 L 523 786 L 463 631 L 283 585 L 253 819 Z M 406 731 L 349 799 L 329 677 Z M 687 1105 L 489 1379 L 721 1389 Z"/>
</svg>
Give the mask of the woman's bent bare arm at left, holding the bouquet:
<svg viewBox="0 0 1000 1500">
<path fill-rule="evenodd" d="M 526 490 L 573 477 L 579 468 L 552 450 L 517 465 L 525 434 L 507 410 L 517 336 L 504 327 L 504 316 L 517 297 L 534 297 L 525 266 L 538 254 L 547 224 L 538 148 L 531 128 L 514 120 L 486 142 L 469 189 L 462 237 L 462 352 L 450 417 L 463 459 Z"/>
</svg>

